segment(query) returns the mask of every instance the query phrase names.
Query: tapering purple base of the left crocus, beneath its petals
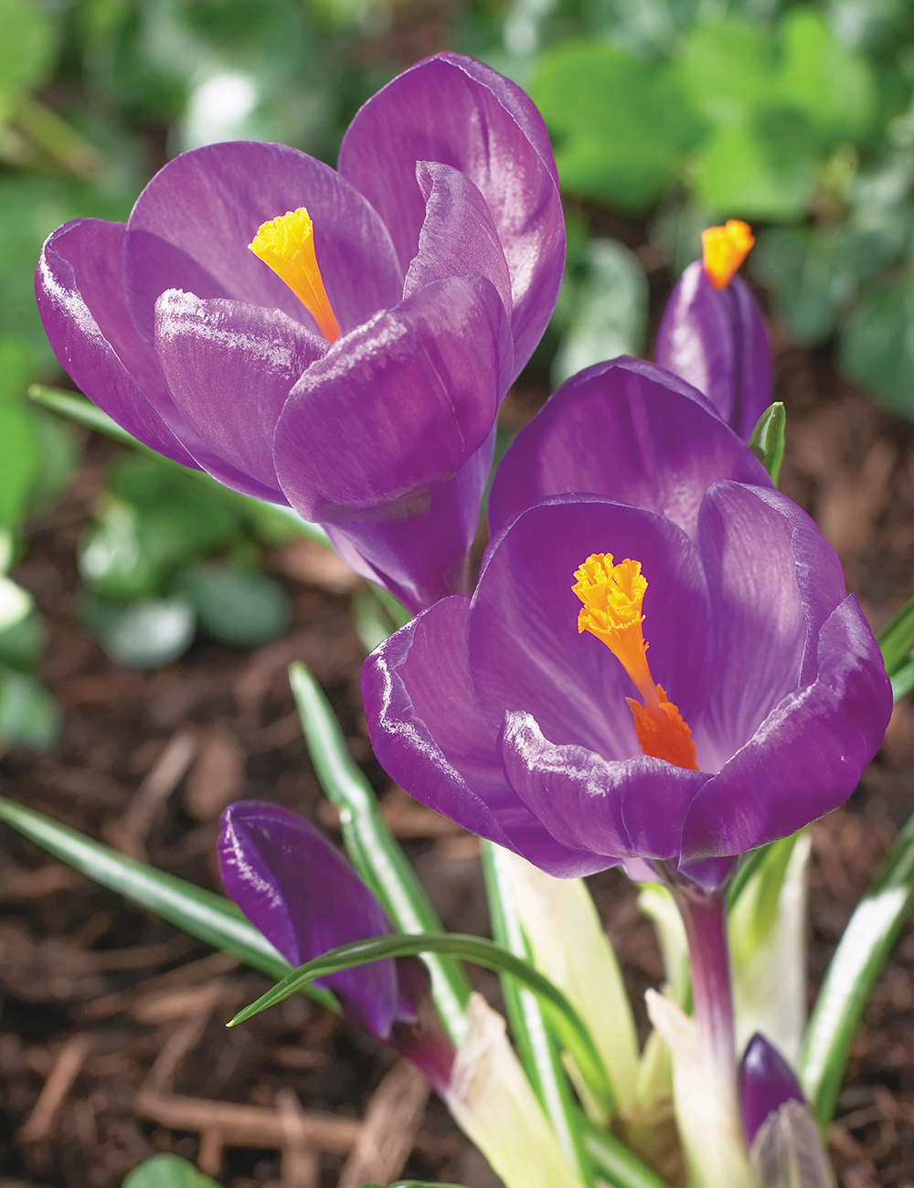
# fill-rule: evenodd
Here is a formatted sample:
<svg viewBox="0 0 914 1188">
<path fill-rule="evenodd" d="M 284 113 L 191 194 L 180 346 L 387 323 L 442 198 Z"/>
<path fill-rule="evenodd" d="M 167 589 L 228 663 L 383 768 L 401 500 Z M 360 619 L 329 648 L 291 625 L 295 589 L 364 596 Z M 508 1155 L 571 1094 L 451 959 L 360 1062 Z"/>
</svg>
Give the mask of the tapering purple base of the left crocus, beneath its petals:
<svg viewBox="0 0 914 1188">
<path fill-rule="evenodd" d="M 494 428 L 453 479 L 431 487 L 428 500 L 403 516 L 327 524 L 342 561 L 377 582 L 415 613 L 473 588 L 469 549 L 479 524 L 494 448 Z"/>
</svg>

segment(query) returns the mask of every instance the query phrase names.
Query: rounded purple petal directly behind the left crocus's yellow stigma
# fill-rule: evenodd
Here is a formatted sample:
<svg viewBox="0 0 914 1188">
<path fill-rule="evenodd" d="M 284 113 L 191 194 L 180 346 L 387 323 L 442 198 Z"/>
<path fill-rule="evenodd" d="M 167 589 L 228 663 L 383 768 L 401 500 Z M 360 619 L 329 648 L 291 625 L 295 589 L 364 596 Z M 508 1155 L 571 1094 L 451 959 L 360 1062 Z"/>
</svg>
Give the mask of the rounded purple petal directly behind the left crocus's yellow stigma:
<svg viewBox="0 0 914 1188">
<path fill-rule="evenodd" d="M 317 333 L 295 293 L 247 247 L 260 223 L 298 207 L 314 221 L 317 263 L 343 333 L 396 305 L 405 270 L 365 198 L 296 148 L 233 140 L 170 160 L 137 200 L 124 287 L 140 336 L 152 342 L 156 299 L 166 289 L 279 309 Z"/>
</svg>

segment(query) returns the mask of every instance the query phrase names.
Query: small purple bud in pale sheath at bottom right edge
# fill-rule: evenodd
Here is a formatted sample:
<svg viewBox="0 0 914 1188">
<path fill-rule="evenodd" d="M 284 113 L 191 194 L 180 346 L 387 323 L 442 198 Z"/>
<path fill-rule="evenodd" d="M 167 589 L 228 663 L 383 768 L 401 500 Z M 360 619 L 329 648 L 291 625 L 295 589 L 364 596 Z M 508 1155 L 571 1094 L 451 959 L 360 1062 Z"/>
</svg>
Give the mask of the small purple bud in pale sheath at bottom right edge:
<svg viewBox="0 0 914 1188">
<path fill-rule="evenodd" d="M 743 1056 L 739 1097 L 761 1188 L 833 1188 L 828 1157 L 802 1089 L 762 1035 L 752 1036 Z"/>
</svg>

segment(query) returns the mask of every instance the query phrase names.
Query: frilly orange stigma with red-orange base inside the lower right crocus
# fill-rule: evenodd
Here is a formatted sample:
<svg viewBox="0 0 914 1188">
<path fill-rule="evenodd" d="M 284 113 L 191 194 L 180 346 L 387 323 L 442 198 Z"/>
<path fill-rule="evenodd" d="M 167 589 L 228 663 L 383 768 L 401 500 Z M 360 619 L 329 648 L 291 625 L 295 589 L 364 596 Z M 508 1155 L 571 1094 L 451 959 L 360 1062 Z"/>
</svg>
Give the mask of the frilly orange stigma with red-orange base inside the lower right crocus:
<svg viewBox="0 0 914 1188">
<path fill-rule="evenodd" d="M 698 771 L 692 731 L 676 706 L 667 701 L 648 668 L 648 644 L 641 613 L 647 579 L 639 561 L 613 564 L 611 552 L 594 552 L 574 571 L 572 587 L 584 606 L 578 612 L 578 631 L 590 631 L 603 640 L 631 677 L 642 701 L 626 697 L 635 719 L 635 733 L 644 754 L 666 759 L 677 767 Z"/>
</svg>

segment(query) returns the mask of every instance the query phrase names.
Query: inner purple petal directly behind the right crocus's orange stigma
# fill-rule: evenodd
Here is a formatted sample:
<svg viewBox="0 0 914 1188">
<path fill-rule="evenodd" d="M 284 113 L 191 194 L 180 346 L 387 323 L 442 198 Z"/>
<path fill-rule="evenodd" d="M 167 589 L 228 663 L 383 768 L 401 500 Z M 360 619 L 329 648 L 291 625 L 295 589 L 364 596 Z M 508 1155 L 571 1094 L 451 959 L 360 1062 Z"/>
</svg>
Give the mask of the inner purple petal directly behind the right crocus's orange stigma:
<svg viewBox="0 0 914 1188">
<path fill-rule="evenodd" d="M 605 644 L 578 633 L 574 570 L 593 552 L 642 563 L 651 674 L 686 721 L 696 719 L 710 649 L 698 554 L 669 520 L 609 500 L 540 504 L 490 546 L 469 618 L 469 670 L 493 729 L 505 710 L 523 709 L 550 742 L 629 759 L 641 754 L 625 701 L 634 685 Z"/>
</svg>

